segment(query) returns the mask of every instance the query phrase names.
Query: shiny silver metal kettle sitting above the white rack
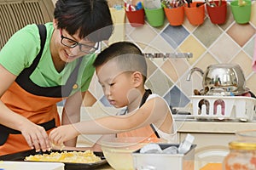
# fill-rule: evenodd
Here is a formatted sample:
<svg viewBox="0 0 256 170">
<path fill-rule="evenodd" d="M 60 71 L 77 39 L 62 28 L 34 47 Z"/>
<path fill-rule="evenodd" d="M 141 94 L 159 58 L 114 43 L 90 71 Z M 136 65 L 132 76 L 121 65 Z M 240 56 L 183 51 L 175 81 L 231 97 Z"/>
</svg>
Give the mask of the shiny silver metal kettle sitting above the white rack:
<svg viewBox="0 0 256 170">
<path fill-rule="evenodd" d="M 187 77 L 188 81 L 194 71 L 200 71 L 203 76 L 202 85 L 205 89 L 204 95 L 230 96 L 246 94 L 249 91 L 249 89 L 245 87 L 245 77 L 239 65 L 209 65 L 205 72 L 200 68 L 195 67 L 190 70 Z M 208 91 L 206 91 L 206 89 Z"/>
</svg>

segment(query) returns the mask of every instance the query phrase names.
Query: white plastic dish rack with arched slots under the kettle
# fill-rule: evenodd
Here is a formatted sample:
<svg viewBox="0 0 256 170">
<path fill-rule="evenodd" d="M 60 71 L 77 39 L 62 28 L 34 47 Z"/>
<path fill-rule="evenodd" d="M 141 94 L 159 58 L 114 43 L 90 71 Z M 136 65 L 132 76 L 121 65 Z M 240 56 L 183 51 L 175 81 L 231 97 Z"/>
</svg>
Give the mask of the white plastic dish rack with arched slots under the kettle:
<svg viewBox="0 0 256 170">
<path fill-rule="evenodd" d="M 251 97 L 194 95 L 191 101 L 195 118 L 247 122 L 256 117 L 256 99 Z"/>
</svg>

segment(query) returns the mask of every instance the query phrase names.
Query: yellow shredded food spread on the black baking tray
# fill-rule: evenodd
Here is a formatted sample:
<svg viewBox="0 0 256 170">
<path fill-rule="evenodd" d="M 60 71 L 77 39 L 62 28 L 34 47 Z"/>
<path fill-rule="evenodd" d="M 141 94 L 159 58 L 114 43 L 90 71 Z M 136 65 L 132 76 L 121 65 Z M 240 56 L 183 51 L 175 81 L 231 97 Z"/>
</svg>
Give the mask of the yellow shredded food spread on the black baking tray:
<svg viewBox="0 0 256 170">
<path fill-rule="evenodd" d="M 51 152 L 50 154 L 26 156 L 25 161 L 61 161 L 71 163 L 95 163 L 101 161 L 93 151 L 62 151 Z"/>
</svg>

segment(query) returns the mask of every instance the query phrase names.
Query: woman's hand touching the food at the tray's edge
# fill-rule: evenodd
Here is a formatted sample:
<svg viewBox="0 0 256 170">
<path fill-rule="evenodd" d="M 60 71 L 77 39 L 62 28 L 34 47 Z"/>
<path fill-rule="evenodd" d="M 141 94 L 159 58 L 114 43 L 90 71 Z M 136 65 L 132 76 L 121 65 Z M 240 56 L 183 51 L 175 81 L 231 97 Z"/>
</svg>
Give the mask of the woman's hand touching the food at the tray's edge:
<svg viewBox="0 0 256 170">
<path fill-rule="evenodd" d="M 50 150 L 50 143 L 48 139 L 48 134 L 46 133 L 44 127 L 36 125 L 32 122 L 26 123 L 20 132 L 25 137 L 27 144 L 36 151 L 39 150 Z"/>
</svg>

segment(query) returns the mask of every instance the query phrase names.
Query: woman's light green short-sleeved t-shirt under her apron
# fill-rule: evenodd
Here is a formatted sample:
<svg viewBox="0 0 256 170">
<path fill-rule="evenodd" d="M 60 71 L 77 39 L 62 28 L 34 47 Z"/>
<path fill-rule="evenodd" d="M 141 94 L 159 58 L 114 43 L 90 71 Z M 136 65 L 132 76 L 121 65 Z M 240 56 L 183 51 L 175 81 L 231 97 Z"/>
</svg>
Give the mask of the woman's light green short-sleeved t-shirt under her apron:
<svg viewBox="0 0 256 170">
<path fill-rule="evenodd" d="M 37 68 L 32 72 L 30 78 L 32 82 L 41 87 L 64 85 L 75 65 L 77 65 L 78 59 L 68 63 L 61 72 L 56 71 L 49 50 L 49 42 L 54 27 L 51 22 L 46 23 L 45 26 L 47 30 L 47 38 L 44 45 L 44 51 Z M 20 31 L 17 31 L 1 49 L 0 65 L 3 65 L 5 69 L 18 76 L 21 71 L 32 65 L 32 61 L 36 58 L 39 51 L 40 35 L 38 26 L 25 26 Z M 77 80 L 77 84 L 82 92 L 89 88 L 90 80 L 95 71 L 95 68 L 92 65 L 95 58 L 96 54 L 88 54 L 82 59 Z M 74 89 L 72 94 L 78 89 Z"/>
</svg>

